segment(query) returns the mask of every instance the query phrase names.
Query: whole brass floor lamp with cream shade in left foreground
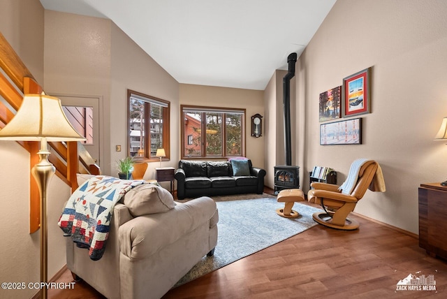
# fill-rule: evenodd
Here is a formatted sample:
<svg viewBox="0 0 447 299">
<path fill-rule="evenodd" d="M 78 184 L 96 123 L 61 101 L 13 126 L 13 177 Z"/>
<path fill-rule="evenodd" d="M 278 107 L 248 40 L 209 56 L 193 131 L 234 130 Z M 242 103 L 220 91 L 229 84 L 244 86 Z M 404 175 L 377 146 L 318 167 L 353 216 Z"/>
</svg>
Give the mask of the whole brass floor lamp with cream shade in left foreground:
<svg viewBox="0 0 447 299">
<path fill-rule="evenodd" d="M 39 162 L 31 169 L 41 196 L 41 282 L 47 282 L 47 187 L 56 169 L 48 161 L 48 141 L 85 140 L 73 129 L 62 110 L 61 101 L 52 96 L 25 94 L 15 117 L 0 130 L 0 140 L 39 141 Z M 47 298 L 47 288 L 41 289 Z"/>
</svg>

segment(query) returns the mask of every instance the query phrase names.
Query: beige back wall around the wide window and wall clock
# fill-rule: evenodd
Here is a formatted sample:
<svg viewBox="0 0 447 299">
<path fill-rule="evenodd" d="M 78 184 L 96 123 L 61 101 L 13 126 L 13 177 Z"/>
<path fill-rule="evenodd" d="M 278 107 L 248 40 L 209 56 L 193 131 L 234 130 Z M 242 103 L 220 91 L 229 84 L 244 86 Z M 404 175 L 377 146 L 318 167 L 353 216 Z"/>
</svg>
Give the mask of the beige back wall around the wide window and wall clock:
<svg viewBox="0 0 447 299">
<path fill-rule="evenodd" d="M 246 109 L 246 156 L 251 159 L 254 166 L 264 167 L 265 135 L 258 138 L 251 137 L 251 115 L 259 113 L 264 116 L 265 113 L 263 91 L 187 84 L 181 84 L 179 90 L 180 104 Z M 263 118 L 263 132 L 266 125 Z"/>
</svg>

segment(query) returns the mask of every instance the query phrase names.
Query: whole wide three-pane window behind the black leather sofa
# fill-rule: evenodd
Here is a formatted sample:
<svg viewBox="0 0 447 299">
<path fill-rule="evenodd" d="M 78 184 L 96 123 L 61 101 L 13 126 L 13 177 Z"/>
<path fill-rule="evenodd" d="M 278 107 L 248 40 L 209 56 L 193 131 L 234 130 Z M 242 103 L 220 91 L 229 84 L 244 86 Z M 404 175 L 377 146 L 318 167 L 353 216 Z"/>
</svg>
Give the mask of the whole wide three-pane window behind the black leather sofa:
<svg viewBox="0 0 447 299">
<path fill-rule="evenodd" d="M 182 157 L 244 156 L 245 110 L 181 106 Z"/>
</svg>

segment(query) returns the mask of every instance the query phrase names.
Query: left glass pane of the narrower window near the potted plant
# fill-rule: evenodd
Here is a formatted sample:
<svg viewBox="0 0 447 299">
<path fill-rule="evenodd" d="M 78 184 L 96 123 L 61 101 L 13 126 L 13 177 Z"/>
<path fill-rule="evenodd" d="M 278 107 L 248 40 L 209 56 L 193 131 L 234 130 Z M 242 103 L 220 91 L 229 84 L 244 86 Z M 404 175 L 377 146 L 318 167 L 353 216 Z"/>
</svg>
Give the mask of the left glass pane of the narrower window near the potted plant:
<svg viewBox="0 0 447 299">
<path fill-rule="evenodd" d="M 145 102 L 130 99 L 130 154 L 145 156 Z"/>
</svg>

